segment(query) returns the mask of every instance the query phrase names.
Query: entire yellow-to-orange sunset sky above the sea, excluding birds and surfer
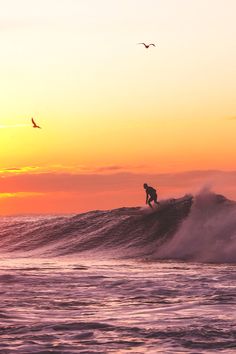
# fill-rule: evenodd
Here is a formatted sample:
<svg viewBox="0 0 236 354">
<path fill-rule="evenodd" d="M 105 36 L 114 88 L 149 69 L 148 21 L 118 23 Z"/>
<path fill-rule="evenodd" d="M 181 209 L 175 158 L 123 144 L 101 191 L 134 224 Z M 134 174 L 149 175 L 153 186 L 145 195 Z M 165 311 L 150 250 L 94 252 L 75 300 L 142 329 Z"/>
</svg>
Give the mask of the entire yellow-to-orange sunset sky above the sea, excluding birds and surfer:
<svg viewBox="0 0 236 354">
<path fill-rule="evenodd" d="M 0 5 L 1 215 L 236 198 L 235 0 Z"/>
</svg>

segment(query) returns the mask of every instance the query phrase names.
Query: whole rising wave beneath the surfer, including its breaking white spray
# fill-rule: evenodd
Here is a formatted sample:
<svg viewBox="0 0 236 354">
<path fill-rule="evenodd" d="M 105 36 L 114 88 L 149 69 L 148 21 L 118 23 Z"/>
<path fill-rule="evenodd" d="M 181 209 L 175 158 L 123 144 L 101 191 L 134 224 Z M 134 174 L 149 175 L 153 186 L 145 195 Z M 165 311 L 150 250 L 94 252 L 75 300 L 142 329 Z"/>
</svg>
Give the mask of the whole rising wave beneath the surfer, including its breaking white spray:
<svg viewBox="0 0 236 354">
<path fill-rule="evenodd" d="M 236 262 L 236 203 L 203 191 L 155 209 L 1 219 L 0 249 L 14 256 L 101 256 Z"/>
</svg>

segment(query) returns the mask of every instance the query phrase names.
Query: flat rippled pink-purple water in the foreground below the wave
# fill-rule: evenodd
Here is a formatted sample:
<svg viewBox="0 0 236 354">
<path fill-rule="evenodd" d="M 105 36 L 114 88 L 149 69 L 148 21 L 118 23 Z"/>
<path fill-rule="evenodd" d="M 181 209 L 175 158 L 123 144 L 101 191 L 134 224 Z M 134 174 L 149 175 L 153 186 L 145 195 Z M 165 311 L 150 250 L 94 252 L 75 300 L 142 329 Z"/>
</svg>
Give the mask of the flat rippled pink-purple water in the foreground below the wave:
<svg viewBox="0 0 236 354">
<path fill-rule="evenodd" d="M 0 353 L 235 353 L 235 265 L 0 262 Z"/>
</svg>

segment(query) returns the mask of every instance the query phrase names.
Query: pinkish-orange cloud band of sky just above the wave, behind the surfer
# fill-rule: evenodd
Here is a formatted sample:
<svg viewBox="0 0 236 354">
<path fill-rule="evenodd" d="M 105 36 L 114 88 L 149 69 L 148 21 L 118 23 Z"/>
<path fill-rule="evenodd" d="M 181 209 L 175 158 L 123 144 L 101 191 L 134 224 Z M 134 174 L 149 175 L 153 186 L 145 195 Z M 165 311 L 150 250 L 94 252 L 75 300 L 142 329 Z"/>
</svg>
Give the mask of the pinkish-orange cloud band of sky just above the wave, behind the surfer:
<svg viewBox="0 0 236 354">
<path fill-rule="evenodd" d="M 236 171 L 182 173 L 21 173 L 2 175 L 0 214 L 70 213 L 121 206 L 144 206 L 143 183 L 160 199 L 195 194 L 204 187 L 236 199 Z"/>
</svg>

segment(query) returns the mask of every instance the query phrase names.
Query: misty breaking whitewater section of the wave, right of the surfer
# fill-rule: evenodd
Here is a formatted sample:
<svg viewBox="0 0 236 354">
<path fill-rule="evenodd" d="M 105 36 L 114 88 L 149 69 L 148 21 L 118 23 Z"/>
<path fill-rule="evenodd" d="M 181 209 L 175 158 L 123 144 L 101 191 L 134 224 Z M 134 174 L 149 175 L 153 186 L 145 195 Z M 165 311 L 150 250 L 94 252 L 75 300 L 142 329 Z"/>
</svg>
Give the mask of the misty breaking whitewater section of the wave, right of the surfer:
<svg viewBox="0 0 236 354">
<path fill-rule="evenodd" d="M 235 263 L 236 203 L 209 191 L 199 193 L 188 217 L 155 256 Z"/>
</svg>

